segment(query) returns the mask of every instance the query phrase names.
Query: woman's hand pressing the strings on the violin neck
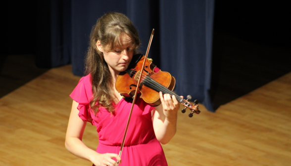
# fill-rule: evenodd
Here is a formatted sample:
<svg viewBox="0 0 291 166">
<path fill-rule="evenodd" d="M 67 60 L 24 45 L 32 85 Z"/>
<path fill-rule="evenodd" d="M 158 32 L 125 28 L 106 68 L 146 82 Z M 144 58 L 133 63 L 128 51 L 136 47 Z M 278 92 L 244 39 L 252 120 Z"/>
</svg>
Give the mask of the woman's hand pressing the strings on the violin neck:
<svg viewBox="0 0 291 166">
<path fill-rule="evenodd" d="M 181 96 L 183 98 L 183 96 Z M 163 113 L 168 121 L 177 119 L 177 113 L 180 109 L 180 104 L 176 97 L 173 95 L 171 98 L 170 94 L 162 94 L 160 92 L 160 99 L 163 106 Z"/>
</svg>

